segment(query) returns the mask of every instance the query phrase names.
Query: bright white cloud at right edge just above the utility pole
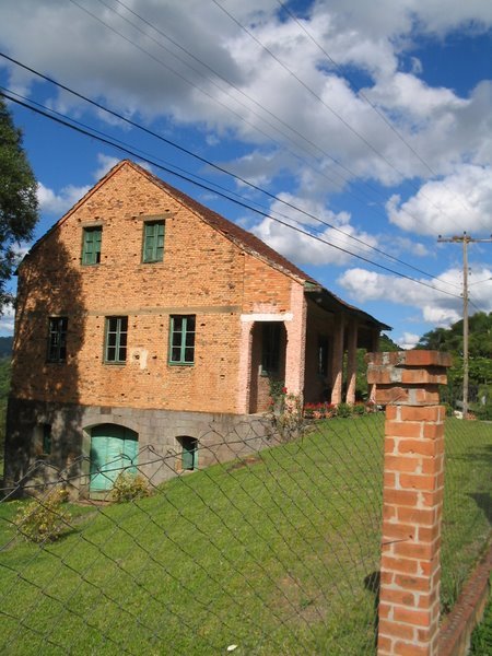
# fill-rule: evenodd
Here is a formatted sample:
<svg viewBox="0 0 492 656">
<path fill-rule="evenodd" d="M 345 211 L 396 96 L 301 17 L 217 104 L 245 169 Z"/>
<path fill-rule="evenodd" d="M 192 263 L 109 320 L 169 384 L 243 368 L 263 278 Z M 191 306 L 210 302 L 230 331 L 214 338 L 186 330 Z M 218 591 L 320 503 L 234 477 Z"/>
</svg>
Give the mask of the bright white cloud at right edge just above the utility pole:
<svg viewBox="0 0 492 656">
<path fill-rule="evenodd" d="M 394 195 L 387 206 L 389 221 L 423 235 L 490 234 L 492 231 L 492 167 L 464 164 L 443 180 L 425 183 L 401 202 Z"/>
</svg>

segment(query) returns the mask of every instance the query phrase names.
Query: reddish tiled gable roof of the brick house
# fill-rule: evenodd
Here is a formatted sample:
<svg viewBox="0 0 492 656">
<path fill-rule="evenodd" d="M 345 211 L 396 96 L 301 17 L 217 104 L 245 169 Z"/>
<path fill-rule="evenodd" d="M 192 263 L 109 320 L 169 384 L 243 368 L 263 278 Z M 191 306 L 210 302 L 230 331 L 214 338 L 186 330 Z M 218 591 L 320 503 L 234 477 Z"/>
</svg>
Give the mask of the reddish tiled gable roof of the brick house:
<svg viewBox="0 0 492 656">
<path fill-rule="evenodd" d="M 273 248 L 268 246 L 268 244 L 262 242 L 259 237 L 257 237 L 253 233 L 248 232 L 247 230 L 244 230 L 236 223 L 233 223 L 232 221 L 224 219 L 224 216 L 222 216 L 218 212 L 214 212 L 210 208 L 201 204 L 200 202 L 198 202 L 197 200 L 195 200 L 187 194 L 179 191 L 179 189 L 172 187 L 171 185 L 168 185 L 167 183 L 162 180 L 160 177 L 157 177 L 153 173 L 150 173 L 149 171 L 147 171 L 145 168 L 143 168 L 142 166 L 140 166 L 139 164 L 136 164 L 134 162 L 132 162 L 130 160 L 121 160 L 121 162 L 118 162 L 118 164 L 116 164 L 103 178 L 101 178 L 101 180 L 96 185 L 94 185 L 94 187 L 92 187 L 92 189 L 90 189 L 63 216 L 61 216 L 61 219 L 59 219 L 59 221 L 57 221 L 32 246 L 32 248 L 30 249 L 30 253 L 32 250 L 34 250 L 35 248 L 37 248 L 37 246 L 42 242 L 44 242 L 45 238 L 52 231 L 55 231 L 59 225 L 65 223 L 65 221 L 67 221 L 67 219 L 81 204 L 83 204 L 93 194 L 95 194 L 110 177 L 116 175 L 118 173 L 118 171 L 120 171 L 121 168 L 128 167 L 128 166 L 131 167 L 136 173 L 148 178 L 151 183 L 153 183 L 156 187 L 161 188 L 163 191 L 168 194 L 172 198 L 177 200 L 180 204 L 186 206 L 186 208 L 188 208 L 189 210 L 195 212 L 198 216 L 200 216 L 200 219 L 202 219 L 211 227 L 213 227 L 214 230 L 220 232 L 222 235 L 224 235 L 224 237 L 226 237 L 227 239 L 230 239 L 231 242 L 236 244 L 243 250 L 246 250 L 246 253 L 249 253 L 250 255 L 258 257 L 259 259 L 269 263 L 274 269 L 278 269 L 278 270 L 282 271 L 283 273 L 286 273 L 288 276 L 294 278 L 298 282 L 305 284 L 308 290 L 321 291 L 324 294 L 324 297 L 326 300 L 329 298 L 331 301 L 330 305 L 332 304 L 340 309 L 343 308 L 349 314 L 358 315 L 360 318 L 363 318 L 365 321 L 376 325 L 377 327 L 382 328 L 383 330 L 390 329 L 390 327 L 386 326 L 386 324 L 382 324 L 380 321 L 378 321 L 371 315 L 366 314 L 365 312 L 354 307 L 353 305 L 349 305 L 348 303 L 345 303 L 344 301 L 339 298 L 336 294 L 333 294 L 329 290 L 325 289 L 314 278 L 312 278 L 311 276 L 308 276 L 307 273 L 302 271 L 298 267 L 296 267 L 290 260 L 288 260 L 285 257 L 280 255 L 280 253 L 277 253 L 277 250 L 274 250 Z M 28 254 L 27 254 L 27 256 L 28 256 Z"/>
</svg>

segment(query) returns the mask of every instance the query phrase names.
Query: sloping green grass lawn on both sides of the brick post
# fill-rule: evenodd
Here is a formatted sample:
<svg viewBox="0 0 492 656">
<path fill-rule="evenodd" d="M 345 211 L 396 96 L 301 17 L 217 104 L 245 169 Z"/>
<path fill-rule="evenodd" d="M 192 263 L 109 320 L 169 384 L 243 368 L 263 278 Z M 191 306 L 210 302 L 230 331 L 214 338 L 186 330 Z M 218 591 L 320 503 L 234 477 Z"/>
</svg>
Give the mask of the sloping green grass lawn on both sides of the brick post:
<svg viewBox="0 0 492 656">
<path fill-rule="evenodd" d="M 71 505 L 72 529 L 44 548 L 12 527 L 24 502 L 1 504 L 1 653 L 373 654 L 383 422 L 330 420 L 149 499 Z M 443 573 L 469 567 L 489 530 L 492 425 L 454 424 Z"/>
</svg>

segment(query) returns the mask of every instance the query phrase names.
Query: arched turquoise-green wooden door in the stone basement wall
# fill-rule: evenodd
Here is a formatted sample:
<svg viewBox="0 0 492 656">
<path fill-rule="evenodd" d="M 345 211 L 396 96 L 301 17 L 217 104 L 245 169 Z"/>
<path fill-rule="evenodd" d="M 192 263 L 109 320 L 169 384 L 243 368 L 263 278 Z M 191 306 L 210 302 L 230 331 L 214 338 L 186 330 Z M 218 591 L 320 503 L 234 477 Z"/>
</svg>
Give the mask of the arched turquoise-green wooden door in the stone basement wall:
<svg viewBox="0 0 492 656">
<path fill-rule="evenodd" d="M 138 434 L 117 424 L 101 424 L 91 431 L 91 492 L 107 492 L 122 471 L 136 472 Z"/>
</svg>

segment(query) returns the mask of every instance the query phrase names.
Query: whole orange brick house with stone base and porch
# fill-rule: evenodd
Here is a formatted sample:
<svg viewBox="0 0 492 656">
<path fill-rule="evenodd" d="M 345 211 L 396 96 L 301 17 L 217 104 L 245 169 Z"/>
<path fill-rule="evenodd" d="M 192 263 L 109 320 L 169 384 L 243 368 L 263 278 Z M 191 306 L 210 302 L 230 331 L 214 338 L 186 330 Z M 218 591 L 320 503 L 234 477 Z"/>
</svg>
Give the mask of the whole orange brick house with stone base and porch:
<svg viewBox="0 0 492 656">
<path fill-rule="evenodd" d="M 207 440 L 266 411 L 271 377 L 305 401 L 353 402 L 356 348 L 388 328 L 129 161 L 17 273 L 5 477 L 77 462 L 81 492 L 150 445 L 176 454 L 159 480 L 234 457 Z"/>
</svg>

